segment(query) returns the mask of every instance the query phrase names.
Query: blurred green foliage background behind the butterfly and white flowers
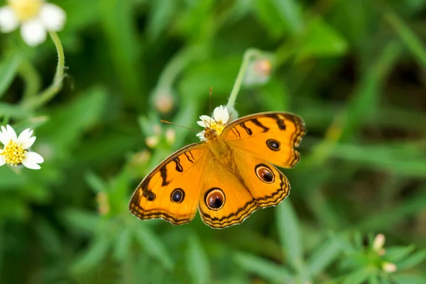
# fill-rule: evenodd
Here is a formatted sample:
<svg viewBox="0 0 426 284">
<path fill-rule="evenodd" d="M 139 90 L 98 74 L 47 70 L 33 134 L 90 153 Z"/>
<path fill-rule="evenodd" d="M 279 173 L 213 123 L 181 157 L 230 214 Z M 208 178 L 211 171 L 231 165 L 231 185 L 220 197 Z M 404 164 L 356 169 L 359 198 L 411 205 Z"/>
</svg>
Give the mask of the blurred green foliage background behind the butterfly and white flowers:
<svg viewBox="0 0 426 284">
<path fill-rule="evenodd" d="M 23 104 L 53 80 L 52 40 L 0 35 L 0 124 L 35 129 L 45 158 L 0 168 L 0 283 L 426 283 L 425 0 L 53 2 L 67 76 L 49 102 Z M 139 221 L 138 182 L 197 141 L 160 119 L 199 129 L 249 48 L 273 68 L 239 115 L 307 126 L 290 197 L 223 230 Z"/>
</svg>

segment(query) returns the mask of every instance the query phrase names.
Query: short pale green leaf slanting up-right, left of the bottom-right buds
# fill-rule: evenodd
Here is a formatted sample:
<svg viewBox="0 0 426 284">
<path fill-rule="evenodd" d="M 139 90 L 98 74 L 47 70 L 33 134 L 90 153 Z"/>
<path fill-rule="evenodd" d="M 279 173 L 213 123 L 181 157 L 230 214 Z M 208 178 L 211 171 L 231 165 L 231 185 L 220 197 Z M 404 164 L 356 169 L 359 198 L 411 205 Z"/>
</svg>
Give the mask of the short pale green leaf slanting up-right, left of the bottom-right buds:
<svg viewBox="0 0 426 284">
<path fill-rule="evenodd" d="M 329 239 L 320 244 L 315 251 L 312 252 L 307 261 L 307 268 L 309 269 L 312 278 L 324 271 L 332 261 L 337 259 L 337 256 L 342 252 L 342 246 L 339 241 Z"/>
</svg>

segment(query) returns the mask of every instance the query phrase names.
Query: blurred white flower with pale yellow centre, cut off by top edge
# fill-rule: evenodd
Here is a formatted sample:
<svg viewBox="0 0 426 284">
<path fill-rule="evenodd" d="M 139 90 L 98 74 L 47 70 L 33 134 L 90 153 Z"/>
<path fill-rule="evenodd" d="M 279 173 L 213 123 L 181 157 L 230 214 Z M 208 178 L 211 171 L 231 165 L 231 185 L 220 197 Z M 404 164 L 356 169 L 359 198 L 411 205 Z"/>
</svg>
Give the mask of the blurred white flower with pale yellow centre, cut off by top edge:
<svg viewBox="0 0 426 284">
<path fill-rule="evenodd" d="M 43 43 L 47 31 L 60 31 L 65 23 L 65 11 L 44 0 L 7 0 L 0 7 L 0 31 L 9 33 L 21 23 L 21 35 L 30 46 Z"/>
</svg>

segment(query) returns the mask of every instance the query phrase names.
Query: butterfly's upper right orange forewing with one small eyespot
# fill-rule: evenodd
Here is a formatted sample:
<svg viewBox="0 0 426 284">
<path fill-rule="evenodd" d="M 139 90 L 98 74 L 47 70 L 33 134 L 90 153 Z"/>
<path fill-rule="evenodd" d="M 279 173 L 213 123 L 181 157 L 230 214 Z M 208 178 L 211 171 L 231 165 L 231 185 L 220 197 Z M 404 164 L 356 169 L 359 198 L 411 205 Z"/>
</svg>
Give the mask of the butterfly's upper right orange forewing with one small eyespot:
<svg viewBox="0 0 426 284">
<path fill-rule="evenodd" d="M 305 123 L 295 114 L 263 112 L 231 122 L 222 137 L 231 148 L 256 155 L 283 168 L 300 160 L 295 150 L 306 133 Z"/>
</svg>

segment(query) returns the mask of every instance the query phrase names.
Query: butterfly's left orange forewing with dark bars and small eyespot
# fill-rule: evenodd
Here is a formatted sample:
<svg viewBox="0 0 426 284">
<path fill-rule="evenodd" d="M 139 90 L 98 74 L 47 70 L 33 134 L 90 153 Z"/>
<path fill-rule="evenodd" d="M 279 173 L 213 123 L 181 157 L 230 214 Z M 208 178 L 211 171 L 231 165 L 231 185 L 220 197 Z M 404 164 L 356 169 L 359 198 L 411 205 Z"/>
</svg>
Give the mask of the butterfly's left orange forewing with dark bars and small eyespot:
<svg viewBox="0 0 426 284">
<path fill-rule="evenodd" d="M 139 219 L 162 218 L 172 224 L 194 219 L 207 151 L 206 143 L 194 143 L 163 160 L 136 188 L 130 212 Z"/>
</svg>

